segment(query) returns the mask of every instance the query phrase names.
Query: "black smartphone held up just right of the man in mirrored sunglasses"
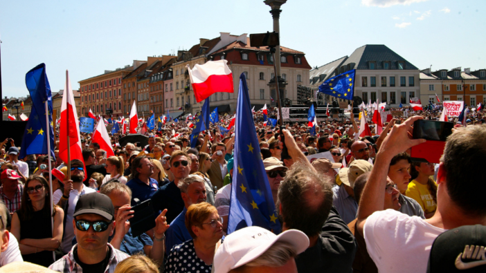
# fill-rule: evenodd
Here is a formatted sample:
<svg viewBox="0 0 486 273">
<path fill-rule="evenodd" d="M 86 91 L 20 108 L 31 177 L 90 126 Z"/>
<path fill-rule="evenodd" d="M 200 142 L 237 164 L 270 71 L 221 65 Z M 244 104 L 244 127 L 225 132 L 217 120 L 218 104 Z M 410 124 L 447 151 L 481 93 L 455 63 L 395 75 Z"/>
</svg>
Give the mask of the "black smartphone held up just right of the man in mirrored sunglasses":
<svg viewBox="0 0 486 273">
<path fill-rule="evenodd" d="M 132 236 L 139 236 L 155 227 L 154 208 L 150 199 L 135 205 L 132 210 L 134 217 L 129 219 Z"/>
</svg>

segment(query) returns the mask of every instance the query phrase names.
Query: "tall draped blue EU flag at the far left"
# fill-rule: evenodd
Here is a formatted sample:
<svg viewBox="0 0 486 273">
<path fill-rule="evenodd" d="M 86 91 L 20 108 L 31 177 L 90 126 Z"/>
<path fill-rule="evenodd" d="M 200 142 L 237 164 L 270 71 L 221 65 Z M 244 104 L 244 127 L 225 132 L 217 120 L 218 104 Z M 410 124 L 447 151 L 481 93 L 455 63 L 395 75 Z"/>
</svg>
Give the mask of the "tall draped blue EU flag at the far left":
<svg viewBox="0 0 486 273">
<path fill-rule="evenodd" d="M 46 65 L 39 64 L 26 74 L 26 86 L 32 99 L 32 110 L 28 116 L 28 122 L 24 131 L 24 138 L 20 149 L 19 158 L 25 158 L 32 154 L 51 153 L 54 157 L 54 131 L 53 131 L 53 100 L 51 86 L 46 75 Z M 46 113 L 46 104 L 48 113 Z M 46 122 L 48 115 L 48 122 Z M 47 130 L 51 139 L 51 151 L 47 149 Z"/>
</svg>

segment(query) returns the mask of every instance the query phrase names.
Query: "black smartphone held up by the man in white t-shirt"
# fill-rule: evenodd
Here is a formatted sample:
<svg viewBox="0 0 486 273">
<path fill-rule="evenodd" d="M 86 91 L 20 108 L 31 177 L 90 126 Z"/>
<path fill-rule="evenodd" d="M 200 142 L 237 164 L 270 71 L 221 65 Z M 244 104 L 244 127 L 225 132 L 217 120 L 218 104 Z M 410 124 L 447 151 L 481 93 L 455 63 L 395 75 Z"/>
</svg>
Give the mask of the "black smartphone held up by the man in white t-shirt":
<svg viewBox="0 0 486 273">
<path fill-rule="evenodd" d="M 413 123 L 413 138 L 446 141 L 454 127 L 453 122 L 435 120 L 417 120 Z"/>
</svg>

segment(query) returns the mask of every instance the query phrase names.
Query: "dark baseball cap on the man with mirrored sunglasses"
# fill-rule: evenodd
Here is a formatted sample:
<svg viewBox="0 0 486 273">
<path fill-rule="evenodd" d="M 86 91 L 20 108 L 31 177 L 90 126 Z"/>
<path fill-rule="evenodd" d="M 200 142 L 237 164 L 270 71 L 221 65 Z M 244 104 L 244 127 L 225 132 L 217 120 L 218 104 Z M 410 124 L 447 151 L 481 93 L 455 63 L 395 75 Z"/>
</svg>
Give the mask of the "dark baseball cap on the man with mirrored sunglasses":
<svg viewBox="0 0 486 273">
<path fill-rule="evenodd" d="M 107 195 L 92 192 L 91 194 L 84 194 L 78 200 L 73 217 L 81 214 L 98 214 L 111 221 L 115 215 L 115 208 Z"/>
</svg>

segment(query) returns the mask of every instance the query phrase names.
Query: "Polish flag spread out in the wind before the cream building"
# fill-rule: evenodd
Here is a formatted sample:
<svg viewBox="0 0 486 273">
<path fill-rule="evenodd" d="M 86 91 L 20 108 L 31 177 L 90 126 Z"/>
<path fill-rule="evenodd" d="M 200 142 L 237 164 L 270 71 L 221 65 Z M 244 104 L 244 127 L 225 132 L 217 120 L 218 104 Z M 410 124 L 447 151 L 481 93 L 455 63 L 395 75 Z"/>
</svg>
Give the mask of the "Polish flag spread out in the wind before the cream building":
<svg viewBox="0 0 486 273">
<path fill-rule="evenodd" d="M 192 89 L 197 102 L 206 100 L 217 92 L 233 93 L 233 73 L 228 67 L 228 61 L 210 61 L 206 64 L 196 64 L 188 72 Z"/>
</svg>

